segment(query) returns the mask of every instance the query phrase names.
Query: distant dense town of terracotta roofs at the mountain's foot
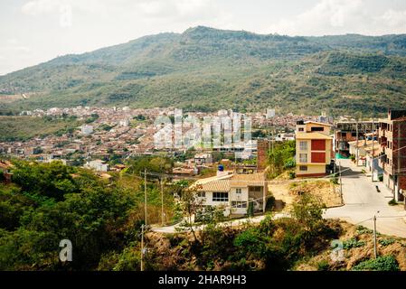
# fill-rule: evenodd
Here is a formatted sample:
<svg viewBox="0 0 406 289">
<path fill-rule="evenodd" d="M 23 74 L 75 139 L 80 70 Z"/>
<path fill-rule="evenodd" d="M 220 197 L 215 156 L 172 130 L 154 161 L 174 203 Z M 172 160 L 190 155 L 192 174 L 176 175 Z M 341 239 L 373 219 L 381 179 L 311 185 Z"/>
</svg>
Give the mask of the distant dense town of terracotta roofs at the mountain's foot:
<svg viewBox="0 0 406 289">
<path fill-rule="evenodd" d="M 232 111 L 218 113 L 190 113 L 194 117 L 214 117 L 217 115 L 232 115 Z M 68 164 L 85 164 L 99 167 L 99 163 L 109 162 L 111 156 L 126 159 L 135 155 L 151 155 L 165 153 L 174 156 L 185 153 L 185 148 L 163 150 L 159 152 L 154 144 L 157 127 L 154 121 L 157 116 L 174 116 L 174 108 L 130 109 L 129 107 L 74 107 L 48 110 L 35 109 L 23 111 L 21 116 L 27 117 L 75 117 L 83 122 L 72 132 L 63 135 L 46 135 L 35 137 L 26 142 L 12 141 L 0 143 L 0 154 L 15 156 L 23 159 L 35 159 L 41 162 L 61 160 Z M 272 126 L 276 133 L 276 141 L 293 140 L 294 127 L 297 119 L 317 119 L 317 117 L 275 116 L 275 112 L 247 114 L 252 119 L 252 126 L 260 130 Z M 278 129 L 278 131 L 276 131 Z M 254 132 L 255 134 L 255 132 Z M 269 135 L 261 135 L 269 138 Z M 200 150 L 200 148 L 196 148 Z M 220 148 L 218 151 L 224 151 Z M 256 141 L 252 143 L 252 151 L 256 151 Z M 231 152 L 229 150 L 229 152 Z M 203 153 L 203 150 L 201 150 Z M 195 158 L 199 158 L 196 156 Z M 201 164 L 201 163 L 197 163 Z M 108 171 L 109 165 L 103 166 Z M 193 167 L 189 167 L 193 169 Z"/>
</svg>

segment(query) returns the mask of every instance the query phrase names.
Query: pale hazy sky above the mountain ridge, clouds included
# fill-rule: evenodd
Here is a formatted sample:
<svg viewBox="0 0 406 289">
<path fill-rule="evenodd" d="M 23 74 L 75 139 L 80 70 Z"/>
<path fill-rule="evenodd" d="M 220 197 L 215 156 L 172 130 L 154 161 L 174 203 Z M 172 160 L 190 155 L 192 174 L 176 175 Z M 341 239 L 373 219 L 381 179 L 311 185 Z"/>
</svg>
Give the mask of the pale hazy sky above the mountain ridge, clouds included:
<svg viewBox="0 0 406 289">
<path fill-rule="evenodd" d="M 0 0 L 0 75 L 197 25 L 286 35 L 406 33 L 406 1 Z"/>
</svg>

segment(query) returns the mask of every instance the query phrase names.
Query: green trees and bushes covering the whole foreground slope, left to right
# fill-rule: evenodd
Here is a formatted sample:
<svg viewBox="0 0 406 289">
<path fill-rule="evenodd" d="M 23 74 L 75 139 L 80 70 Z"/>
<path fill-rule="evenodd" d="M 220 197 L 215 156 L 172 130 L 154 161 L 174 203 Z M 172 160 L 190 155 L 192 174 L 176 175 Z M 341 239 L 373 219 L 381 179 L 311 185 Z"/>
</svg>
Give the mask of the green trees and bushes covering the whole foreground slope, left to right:
<svg viewBox="0 0 406 289">
<path fill-rule="evenodd" d="M 146 161 L 149 161 L 147 163 Z M 146 166 L 165 172 L 162 158 L 137 159 L 134 171 Z M 163 170 L 163 171 L 162 171 Z M 13 183 L 0 182 L 0 270 L 139 270 L 141 225 L 144 223 L 144 183 L 137 173 L 111 172 L 109 180 L 94 172 L 61 162 L 14 161 Z M 1 179 L 0 179 L 1 181 Z M 179 203 L 192 197 L 184 181 L 165 185 L 164 213 L 179 221 Z M 161 222 L 159 183 L 146 186 L 148 223 Z M 198 205 L 182 202 L 180 210 Z M 345 262 L 331 260 L 331 241 L 351 233 L 354 226 L 322 218 L 324 205 L 305 193 L 290 211 L 291 217 L 267 216 L 260 224 L 219 226 L 219 211 L 201 218 L 202 231 L 158 234 L 146 230 L 146 270 L 296 270 L 315 262 L 319 270 L 387 270 L 404 268 L 404 240 L 381 236 L 393 256 L 368 260 L 373 253 L 372 232 L 357 228 L 346 242 Z M 184 216 L 187 216 L 185 214 Z M 206 216 L 207 217 L 207 216 Z M 172 219 L 173 218 L 173 219 Z M 186 225 L 187 226 L 187 225 Z M 349 226 L 349 225 L 348 225 Z M 347 226 L 347 227 L 348 227 Z M 193 228 L 193 226 L 191 227 Z M 192 233 L 192 234 L 191 234 Z M 72 243 L 72 262 L 59 260 L 61 239 Z M 401 244 L 401 246 L 400 246 Z M 360 251 L 369 246 L 369 253 Z M 354 263 L 354 257 L 357 262 Z"/>
</svg>

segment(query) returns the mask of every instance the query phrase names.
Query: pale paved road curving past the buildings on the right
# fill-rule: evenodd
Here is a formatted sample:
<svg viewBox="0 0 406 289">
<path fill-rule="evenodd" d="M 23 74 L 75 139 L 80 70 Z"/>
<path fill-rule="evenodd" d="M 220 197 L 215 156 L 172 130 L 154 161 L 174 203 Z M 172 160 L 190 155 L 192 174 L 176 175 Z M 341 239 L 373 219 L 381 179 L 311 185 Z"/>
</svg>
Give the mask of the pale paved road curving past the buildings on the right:
<svg viewBox="0 0 406 289">
<path fill-rule="evenodd" d="M 361 172 L 350 160 L 340 160 L 343 172 L 343 197 L 345 206 L 328 209 L 325 218 L 344 219 L 357 224 L 371 219 L 376 214 L 376 228 L 382 234 L 406 238 L 406 211 L 402 206 L 392 207 L 392 192 L 382 182 L 371 182 L 371 177 Z M 375 188 L 378 185 L 378 192 Z M 379 211 L 379 213 L 377 213 Z M 373 228 L 373 220 L 361 223 L 366 228 Z"/>
</svg>

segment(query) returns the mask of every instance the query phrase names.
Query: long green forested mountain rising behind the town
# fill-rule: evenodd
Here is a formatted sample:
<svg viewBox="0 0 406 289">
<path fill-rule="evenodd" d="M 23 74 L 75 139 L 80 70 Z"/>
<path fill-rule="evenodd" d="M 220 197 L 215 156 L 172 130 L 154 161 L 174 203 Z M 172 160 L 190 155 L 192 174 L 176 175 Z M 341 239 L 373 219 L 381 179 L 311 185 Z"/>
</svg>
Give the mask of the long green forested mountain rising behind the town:
<svg viewBox="0 0 406 289">
<path fill-rule="evenodd" d="M 31 92 L 9 109 L 128 105 L 189 110 L 333 114 L 406 105 L 406 35 L 288 37 L 195 27 L 0 77 L 0 92 Z"/>
</svg>

